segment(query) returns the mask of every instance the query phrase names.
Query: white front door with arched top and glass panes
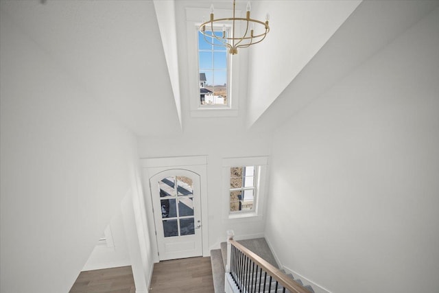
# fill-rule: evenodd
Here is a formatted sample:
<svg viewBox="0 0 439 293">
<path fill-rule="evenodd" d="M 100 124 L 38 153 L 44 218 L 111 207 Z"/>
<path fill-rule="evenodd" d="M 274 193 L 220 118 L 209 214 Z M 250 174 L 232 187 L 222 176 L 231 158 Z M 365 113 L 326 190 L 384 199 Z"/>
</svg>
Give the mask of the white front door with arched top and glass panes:
<svg viewBox="0 0 439 293">
<path fill-rule="evenodd" d="M 202 255 L 200 175 L 167 169 L 150 178 L 158 258 Z"/>
</svg>

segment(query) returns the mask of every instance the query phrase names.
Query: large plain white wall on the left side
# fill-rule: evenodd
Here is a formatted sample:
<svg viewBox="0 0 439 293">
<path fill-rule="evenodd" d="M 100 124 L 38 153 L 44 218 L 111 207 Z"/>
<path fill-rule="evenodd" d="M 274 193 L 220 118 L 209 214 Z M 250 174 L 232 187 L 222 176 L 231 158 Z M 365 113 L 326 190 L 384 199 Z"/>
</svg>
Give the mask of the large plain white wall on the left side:
<svg viewBox="0 0 439 293">
<path fill-rule="evenodd" d="M 68 292 L 132 184 L 134 137 L 1 12 L 1 285 Z"/>
</svg>

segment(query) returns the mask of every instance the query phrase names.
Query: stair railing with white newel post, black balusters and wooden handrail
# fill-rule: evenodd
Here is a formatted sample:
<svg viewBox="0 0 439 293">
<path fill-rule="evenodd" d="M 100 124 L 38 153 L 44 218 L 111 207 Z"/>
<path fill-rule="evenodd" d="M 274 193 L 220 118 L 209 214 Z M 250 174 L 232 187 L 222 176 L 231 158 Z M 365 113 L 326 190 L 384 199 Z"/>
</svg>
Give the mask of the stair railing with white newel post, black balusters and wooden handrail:
<svg viewBox="0 0 439 293">
<path fill-rule="evenodd" d="M 271 263 L 233 240 L 233 236 L 233 231 L 228 231 L 226 277 L 233 280 L 233 287 L 238 292 L 310 293 Z"/>
</svg>

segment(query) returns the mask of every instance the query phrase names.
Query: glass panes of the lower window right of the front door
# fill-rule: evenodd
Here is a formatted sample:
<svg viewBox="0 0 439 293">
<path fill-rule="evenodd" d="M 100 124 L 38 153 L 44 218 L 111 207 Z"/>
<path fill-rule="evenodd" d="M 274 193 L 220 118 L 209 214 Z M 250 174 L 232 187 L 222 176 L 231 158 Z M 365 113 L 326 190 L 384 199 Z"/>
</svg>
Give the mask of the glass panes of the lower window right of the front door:
<svg viewBox="0 0 439 293">
<path fill-rule="evenodd" d="M 257 166 L 230 167 L 230 213 L 254 211 Z"/>
</svg>

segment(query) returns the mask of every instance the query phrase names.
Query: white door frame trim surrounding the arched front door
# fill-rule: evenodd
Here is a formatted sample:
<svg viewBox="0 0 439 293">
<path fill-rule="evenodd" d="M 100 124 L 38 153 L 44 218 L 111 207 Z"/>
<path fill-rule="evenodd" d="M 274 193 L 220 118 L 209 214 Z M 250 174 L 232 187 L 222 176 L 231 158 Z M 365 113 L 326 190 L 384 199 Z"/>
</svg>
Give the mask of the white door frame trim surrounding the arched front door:
<svg viewBox="0 0 439 293">
<path fill-rule="evenodd" d="M 194 167 L 195 170 L 192 170 Z M 146 225 L 150 230 L 150 248 L 154 263 L 158 259 L 157 236 L 155 235 L 156 226 L 153 214 L 152 194 L 150 189 L 150 178 L 155 174 L 167 169 L 187 169 L 200 174 L 200 200 L 201 200 L 201 219 L 202 219 L 202 255 L 209 257 L 209 211 L 208 211 L 208 189 L 207 189 L 207 156 L 173 156 L 163 158 L 141 159 L 143 174 L 143 194 L 145 196 Z M 201 168 L 201 169 L 200 169 Z M 148 199 L 149 198 L 149 199 Z"/>
</svg>

